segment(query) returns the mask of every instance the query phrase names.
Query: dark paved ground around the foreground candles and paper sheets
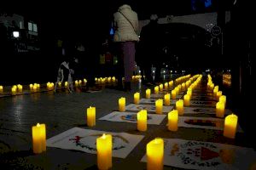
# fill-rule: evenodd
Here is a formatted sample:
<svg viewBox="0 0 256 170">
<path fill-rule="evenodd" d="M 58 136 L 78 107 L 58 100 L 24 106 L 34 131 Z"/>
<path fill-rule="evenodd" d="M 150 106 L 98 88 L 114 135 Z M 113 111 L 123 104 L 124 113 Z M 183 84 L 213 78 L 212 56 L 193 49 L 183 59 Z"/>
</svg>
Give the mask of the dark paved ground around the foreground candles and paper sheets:
<svg viewBox="0 0 256 170">
<path fill-rule="evenodd" d="M 142 93 L 144 89 L 141 88 Z M 237 133 L 236 139 L 226 139 L 221 131 L 207 129 L 179 127 L 176 133 L 171 133 L 166 130 L 166 119 L 160 125 L 148 125 L 144 133 L 137 131 L 135 123 L 97 120 L 96 127 L 86 126 L 87 107 L 96 106 L 96 118 L 100 118 L 117 111 L 118 99 L 122 96 L 126 104 L 132 103 L 133 93 L 139 90 L 134 83 L 132 92 L 104 88 L 95 93 L 58 91 L 54 94 L 50 91 L 0 98 L 0 164 L 5 169 L 96 169 L 96 155 L 81 151 L 48 147 L 43 154 L 34 155 L 31 128 L 37 122 L 46 124 L 47 139 L 72 127 L 145 135 L 127 158 L 113 158 L 113 169 L 146 169 L 146 164 L 139 160 L 145 153 L 145 145 L 155 137 L 251 146 L 243 133 Z"/>
</svg>

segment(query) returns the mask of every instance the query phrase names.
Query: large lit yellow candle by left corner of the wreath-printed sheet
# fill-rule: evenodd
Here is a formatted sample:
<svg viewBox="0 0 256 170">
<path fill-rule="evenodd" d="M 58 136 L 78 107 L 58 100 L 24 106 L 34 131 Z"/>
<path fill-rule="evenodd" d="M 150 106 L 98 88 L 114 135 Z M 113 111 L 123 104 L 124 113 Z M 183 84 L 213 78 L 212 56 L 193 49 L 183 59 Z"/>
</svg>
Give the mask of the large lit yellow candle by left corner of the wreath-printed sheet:
<svg viewBox="0 0 256 170">
<path fill-rule="evenodd" d="M 46 132 L 45 124 L 37 124 L 32 126 L 32 144 L 33 153 L 39 154 L 46 150 Z"/>
</svg>

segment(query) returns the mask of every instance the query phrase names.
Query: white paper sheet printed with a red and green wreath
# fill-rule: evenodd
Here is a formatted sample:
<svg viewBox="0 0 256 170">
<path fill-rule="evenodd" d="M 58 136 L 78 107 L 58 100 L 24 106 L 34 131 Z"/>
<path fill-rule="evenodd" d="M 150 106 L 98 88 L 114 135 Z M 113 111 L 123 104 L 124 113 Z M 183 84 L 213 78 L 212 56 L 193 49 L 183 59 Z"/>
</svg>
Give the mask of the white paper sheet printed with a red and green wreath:
<svg viewBox="0 0 256 170">
<path fill-rule="evenodd" d="M 97 130 L 73 127 L 50 139 L 46 145 L 66 150 L 81 150 L 87 153 L 96 154 L 96 138 L 103 133 L 113 135 L 113 157 L 125 158 L 131 150 L 143 139 L 143 135 L 129 133 L 112 133 Z"/>
</svg>

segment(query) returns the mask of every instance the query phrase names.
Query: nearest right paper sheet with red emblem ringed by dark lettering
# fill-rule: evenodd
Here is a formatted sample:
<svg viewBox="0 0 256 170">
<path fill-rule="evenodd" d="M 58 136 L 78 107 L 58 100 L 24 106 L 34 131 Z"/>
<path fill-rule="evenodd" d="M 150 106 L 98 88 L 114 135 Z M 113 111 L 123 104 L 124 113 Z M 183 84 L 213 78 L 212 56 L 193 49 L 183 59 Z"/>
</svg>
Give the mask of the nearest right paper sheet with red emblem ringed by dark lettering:
<svg viewBox="0 0 256 170">
<path fill-rule="evenodd" d="M 249 169 L 256 159 L 252 148 L 183 139 L 164 139 L 164 165 L 185 169 Z M 146 162 L 147 156 L 142 160 Z"/>
</svg>

